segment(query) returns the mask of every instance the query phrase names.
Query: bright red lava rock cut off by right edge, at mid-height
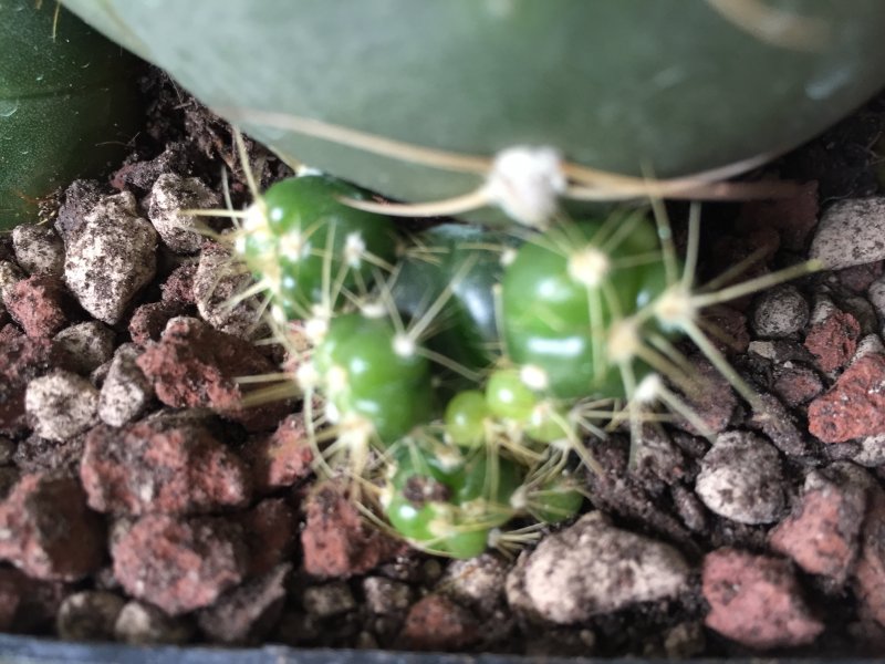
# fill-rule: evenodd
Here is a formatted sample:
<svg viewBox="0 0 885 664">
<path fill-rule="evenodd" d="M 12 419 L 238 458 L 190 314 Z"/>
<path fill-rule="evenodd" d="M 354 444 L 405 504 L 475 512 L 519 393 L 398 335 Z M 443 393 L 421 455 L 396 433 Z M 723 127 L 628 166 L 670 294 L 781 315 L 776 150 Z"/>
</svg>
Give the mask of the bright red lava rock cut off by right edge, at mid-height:
<svg viewBox="0 0 885 664">
<path fill-rule="evenodd" d="M 809 432 L 824 443 L 885 433 L 885 355 L 865 355 L 809 405 Z"/>
</svg>

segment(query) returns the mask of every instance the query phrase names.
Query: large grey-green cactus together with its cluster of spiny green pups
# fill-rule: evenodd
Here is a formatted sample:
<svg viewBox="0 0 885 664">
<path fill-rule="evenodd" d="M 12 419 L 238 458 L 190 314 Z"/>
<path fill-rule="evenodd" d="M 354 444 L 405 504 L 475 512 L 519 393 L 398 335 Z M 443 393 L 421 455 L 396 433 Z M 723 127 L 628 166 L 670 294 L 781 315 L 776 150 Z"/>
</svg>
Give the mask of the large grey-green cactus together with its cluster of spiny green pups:
<svg viewBox="0 0 885 664">
<path fill-rule="evenodd" d="M 700 314 L 815 268 L 705 290 L 698 206 L 680 261 L 659 206 L 652 222 L 589 204 L 783 194 L 721 180 L 882 82 L 872 0 L 65 1 L 284 160 L 355 183 L 256 194 L 233 249 L 281 339 L 304 321 L 289 380 L 317 469 L 454 557 L 576 513 L 589 437 L 627 423 L 635 453 L 660 409 L 706 433 L 684 340 L 756 406 Z M 395 237 L 392 216 L 521 227 Z"/>
</svg>

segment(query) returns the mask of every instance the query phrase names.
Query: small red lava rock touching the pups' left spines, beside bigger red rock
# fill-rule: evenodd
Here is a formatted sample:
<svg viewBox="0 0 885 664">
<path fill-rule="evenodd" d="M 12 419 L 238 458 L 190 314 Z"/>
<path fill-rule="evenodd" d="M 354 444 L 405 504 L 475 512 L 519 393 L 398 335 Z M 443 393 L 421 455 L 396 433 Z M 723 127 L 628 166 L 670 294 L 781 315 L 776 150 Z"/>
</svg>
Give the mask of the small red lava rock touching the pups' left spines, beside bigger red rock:
<svg viewBox="0 0 885 664">
<path fill-rule="evenodd" d="M 273 435 L 263 438 L 247 452 L 252 464 L 256 489 L 269 492 L 291 487 L 311 474 L 313 450 L 304 430 L 304 417 L 290 415 Z"/>
</svg>

